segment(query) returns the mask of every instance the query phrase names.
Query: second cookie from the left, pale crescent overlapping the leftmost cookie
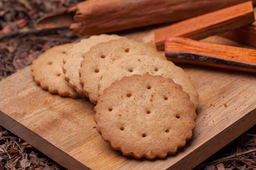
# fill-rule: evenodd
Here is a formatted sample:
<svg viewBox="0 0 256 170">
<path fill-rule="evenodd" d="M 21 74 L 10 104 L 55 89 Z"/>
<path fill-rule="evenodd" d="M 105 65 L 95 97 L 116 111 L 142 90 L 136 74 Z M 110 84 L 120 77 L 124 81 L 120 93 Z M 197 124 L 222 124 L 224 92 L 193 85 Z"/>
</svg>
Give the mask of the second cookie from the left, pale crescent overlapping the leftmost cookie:
<svg viewBox="0 0 256 170">
<path fill-rule="evenodd" d="M 124 37 L 106 34 L 93 35 L 90 38 L 83 39 L 79 43 L 74 44 L 73 48 L 67 52 L 67 55 L 63 58 L 63 73 L 65 73 L 65 79 L 69 82 L 69 85 L 80 95 L 85 96 L 83 87 L 80 84 L 78 72 L 85 53 L 87 53 L 92 46 L 100 42 L 107 42 L 119 38 Z"/>
</svg>

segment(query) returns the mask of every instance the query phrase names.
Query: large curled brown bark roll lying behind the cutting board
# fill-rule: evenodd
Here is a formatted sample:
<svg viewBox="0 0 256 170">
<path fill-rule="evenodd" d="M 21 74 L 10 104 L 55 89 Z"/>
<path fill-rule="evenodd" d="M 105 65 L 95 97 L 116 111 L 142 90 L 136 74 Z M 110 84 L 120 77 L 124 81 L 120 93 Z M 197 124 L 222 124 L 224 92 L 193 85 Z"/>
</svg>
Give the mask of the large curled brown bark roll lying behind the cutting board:
<svg viewBox="0 0 256 170">
<path fill-rule="evenodd" d="M 38 29 L 70 26 L 83 35 L 177 22 L 248 0 L 86 0 L 40 18 Z M 256 1 L 256 0 L 254 0 Z M 74 20 L 71 20 L 74 17 Z M 216 18 L 215 18 L 216 19 Z M 75 25 L 81 22 L 83 25 Z"/>
</svg>

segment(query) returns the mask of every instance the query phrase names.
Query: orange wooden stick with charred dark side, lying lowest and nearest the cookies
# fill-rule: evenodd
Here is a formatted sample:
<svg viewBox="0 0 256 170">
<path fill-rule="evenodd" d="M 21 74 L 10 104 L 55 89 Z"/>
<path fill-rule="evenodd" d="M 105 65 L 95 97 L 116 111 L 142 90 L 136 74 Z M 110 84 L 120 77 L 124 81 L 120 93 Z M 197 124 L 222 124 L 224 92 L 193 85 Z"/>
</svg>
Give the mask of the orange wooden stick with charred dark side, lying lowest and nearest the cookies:
<svg viewBox="0 0 256 170">
<path fill-rule="evenodd" d="M 166 39 L 166 57 L 177 62 L 256 72 L 256 50 L 173 37 Z"/>
</svg>

